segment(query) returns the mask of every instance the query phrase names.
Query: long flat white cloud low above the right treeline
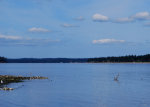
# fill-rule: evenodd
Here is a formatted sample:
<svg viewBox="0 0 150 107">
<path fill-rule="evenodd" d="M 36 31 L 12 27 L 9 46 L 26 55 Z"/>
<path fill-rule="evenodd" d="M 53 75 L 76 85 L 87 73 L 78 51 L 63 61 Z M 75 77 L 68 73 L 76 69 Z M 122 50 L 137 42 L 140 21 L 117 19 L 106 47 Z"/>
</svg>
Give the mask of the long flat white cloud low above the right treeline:
<svg viewBox="0 0 150 107">
<path fill-rule="evenodd" d="M 124 43 L 125 40 L 116 40 L 116 39 L 100 39 L 93 40 L 94 44 L 107 44 L 107 43 Z"/>
</svg>

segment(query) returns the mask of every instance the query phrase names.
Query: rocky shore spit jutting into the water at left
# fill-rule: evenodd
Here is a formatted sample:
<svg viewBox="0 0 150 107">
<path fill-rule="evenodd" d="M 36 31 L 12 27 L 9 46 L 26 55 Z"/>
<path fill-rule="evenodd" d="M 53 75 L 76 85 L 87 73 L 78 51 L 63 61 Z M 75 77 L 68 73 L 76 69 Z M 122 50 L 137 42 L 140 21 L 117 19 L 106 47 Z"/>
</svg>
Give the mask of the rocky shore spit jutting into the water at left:
<svg viewBox="0 0 150 107">
<path fill-rule="evenodd" d="M 23 80 L 32 80 L 32 79 L 48 79 L 48 78 L 41 76 L 23 77 L 12 75 L 0 75 L 0 90 L 14 90 L 14 88 L 8 88 L 4 86 L 9 83 L 23 82 Z"/>
</svg>

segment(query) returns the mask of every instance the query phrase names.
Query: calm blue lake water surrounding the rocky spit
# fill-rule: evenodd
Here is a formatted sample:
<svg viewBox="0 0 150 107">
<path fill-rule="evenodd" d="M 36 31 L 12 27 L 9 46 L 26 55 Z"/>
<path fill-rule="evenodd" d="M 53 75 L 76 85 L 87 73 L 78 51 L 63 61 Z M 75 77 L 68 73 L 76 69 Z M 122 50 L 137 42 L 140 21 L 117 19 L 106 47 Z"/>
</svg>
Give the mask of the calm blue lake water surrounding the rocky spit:
<svg viewBox="0 0 150 107">
<path fill-rule="evenodd" d="M 150 107 L 150 64 L 0 64 L 0 74 L 49 77 L 10 84 L 0 107 Z"/>
</svg>

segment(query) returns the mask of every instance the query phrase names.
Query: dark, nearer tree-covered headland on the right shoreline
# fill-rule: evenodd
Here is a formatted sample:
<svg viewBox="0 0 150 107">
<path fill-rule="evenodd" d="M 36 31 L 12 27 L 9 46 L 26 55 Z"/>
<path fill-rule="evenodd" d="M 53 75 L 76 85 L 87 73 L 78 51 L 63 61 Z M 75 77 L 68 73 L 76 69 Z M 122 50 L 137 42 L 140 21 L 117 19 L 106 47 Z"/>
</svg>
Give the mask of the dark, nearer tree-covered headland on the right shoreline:
<svg viewBox="0 0 150 107">
<path fill-rule="evenodd" d="M 100 57 L 100 58 L 89 58 L 90 63 L 102 63 L 102 62 L 150 62 L 150 54 L 147 55 L 128 55 L 119 57 Z"/>
</svg>

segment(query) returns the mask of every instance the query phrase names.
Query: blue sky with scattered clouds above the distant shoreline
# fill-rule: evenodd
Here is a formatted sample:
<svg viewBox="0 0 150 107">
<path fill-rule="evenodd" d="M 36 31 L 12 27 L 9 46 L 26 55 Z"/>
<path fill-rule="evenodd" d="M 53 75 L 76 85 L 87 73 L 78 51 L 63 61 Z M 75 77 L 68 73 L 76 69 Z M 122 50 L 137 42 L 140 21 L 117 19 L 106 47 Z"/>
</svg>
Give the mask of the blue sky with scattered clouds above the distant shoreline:
<svg viewBox="0 0 150 107">
<path fill-rule="evenodd" d="M 150 53 L 149 0 L 0 0 L 0 56 Z"/>
</svg>

